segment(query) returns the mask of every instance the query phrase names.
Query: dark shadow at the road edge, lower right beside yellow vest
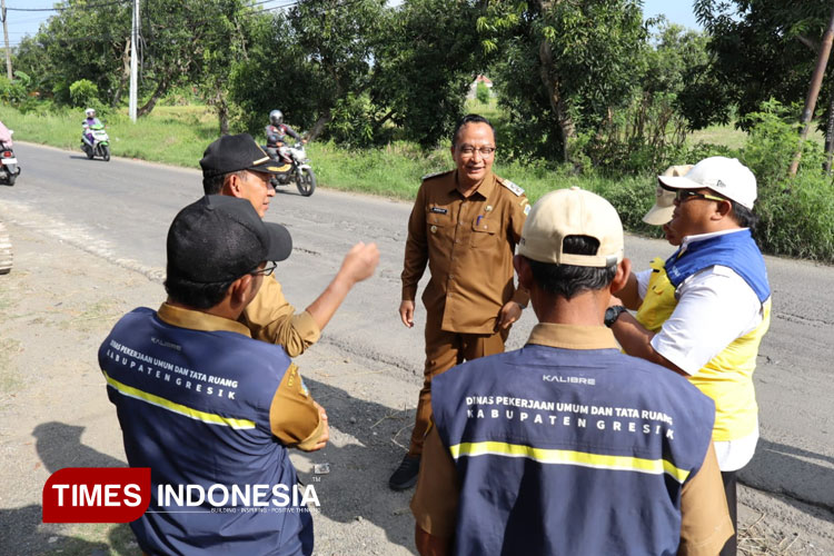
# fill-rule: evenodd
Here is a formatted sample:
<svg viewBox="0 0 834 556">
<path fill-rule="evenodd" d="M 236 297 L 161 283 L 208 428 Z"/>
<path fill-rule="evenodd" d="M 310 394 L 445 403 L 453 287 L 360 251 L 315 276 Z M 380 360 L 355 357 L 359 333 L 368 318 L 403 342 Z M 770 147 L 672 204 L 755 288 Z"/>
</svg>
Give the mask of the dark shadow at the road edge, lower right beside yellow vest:
<svg viewBox="0 0 834 556">
<path fill-rule="evenodd" d="M 834 523 L 834 457 L 761 438 L 741 479 L 759 490 L 783 494 L 797 509 Z"/>
</svg>

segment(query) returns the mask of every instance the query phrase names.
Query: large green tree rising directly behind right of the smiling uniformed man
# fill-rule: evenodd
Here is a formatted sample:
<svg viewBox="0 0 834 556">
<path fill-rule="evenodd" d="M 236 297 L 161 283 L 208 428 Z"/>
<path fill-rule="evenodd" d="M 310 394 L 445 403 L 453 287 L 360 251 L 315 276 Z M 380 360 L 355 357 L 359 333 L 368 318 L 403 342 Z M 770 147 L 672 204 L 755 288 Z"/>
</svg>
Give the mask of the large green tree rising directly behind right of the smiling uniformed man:
<svg viewBox="0 0 834 556">
<path fill-rule="evenodd" d="M 495 63 L 514 143 L 568 160 L 577 126 L 593 129 L 627 101 L 643 75 L 646 29 L 637 0 L 489 0 L 478 20 Z"/>
</svg>

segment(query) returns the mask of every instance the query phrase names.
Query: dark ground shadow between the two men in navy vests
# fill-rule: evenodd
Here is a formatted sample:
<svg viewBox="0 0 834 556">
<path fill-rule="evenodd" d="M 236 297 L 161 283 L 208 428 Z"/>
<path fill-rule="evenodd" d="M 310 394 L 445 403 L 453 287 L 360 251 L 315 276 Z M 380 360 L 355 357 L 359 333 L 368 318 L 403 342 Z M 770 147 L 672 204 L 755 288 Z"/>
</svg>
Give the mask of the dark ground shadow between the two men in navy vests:
<svg viewBox="0 0 834 556">
<path fill-rule="evenodd" d="M 339 523 L 367 520 L 385 530 L 388 540 L 414 550 L 414 518 L 408 507 L 414 489 L 395 493 L 388 488 L 388 476 L 405 455 L 414 424 L 414 409 L 395 410 L 380 404 L 354 398 L 345 390 L 305 377 L 312 397 L 325 407 L 331 427 L 331 443 L 312 453 L 314 463 L 330 464 L 329 475 L 321 476 L 316 492 L 321 514 Z M 334 446 L 332 430 L 356 438 L 341 447 Z M 300 474 L 301 480 L 315 480 Z"/>
</svg>

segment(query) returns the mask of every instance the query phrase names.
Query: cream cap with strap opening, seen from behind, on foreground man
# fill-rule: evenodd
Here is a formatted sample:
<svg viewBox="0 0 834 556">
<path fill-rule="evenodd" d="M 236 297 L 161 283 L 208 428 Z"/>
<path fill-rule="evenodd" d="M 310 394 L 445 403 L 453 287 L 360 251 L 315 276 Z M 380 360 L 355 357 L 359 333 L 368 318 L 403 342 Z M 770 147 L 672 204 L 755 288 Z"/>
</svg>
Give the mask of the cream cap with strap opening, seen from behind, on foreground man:
<svg viewBox="0 0 834 556">
<path fill-rule="evenodd" d="M 596 255 L 562 252 L 568 236 L 599 241 Z M 578 187 L 557 189 L 533 206 L 524 222 L 518 254 L 539 262 L 605 268 L 623 260 L 623 225 L 608 201 Z"/>
</svg>

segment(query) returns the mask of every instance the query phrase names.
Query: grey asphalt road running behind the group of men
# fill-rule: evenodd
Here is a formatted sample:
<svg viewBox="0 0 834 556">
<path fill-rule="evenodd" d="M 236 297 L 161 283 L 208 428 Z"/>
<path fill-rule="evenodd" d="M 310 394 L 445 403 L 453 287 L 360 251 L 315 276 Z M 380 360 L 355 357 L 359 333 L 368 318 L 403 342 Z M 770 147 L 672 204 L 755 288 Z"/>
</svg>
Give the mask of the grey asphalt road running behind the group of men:
<svg viewBox="0 0 834 556">
<path fill-rule="evenodd" d="M 21 142 L 14 150 L 22 175 L 14 187 L 0 188 L 0 219 L 36 227 L 161 281 L 166 231 L 175 214 L 202 195 L 198 171 L 118 158 L 90 161 L 80 151 Z M 418 310 L 411 330 L 396 314 L 409 211 L 410 205 L 400 201 L 327 189 L 305 198 L 285 188 L 272 199 L 267 219 L 292 234 L 294 254 L 279 267 L 278 279 L 297 307 L 326 287 L 353 244 L 378 244 L 376 276 L 350 294 L 322 341 L 346 357 L 413 374 L 418 384 L 425 314 Z M 671 252 L 664 241 L 626 238 L 626 255 L 637 269 Z M 762 439 L 741 479 L 832 510 L 834 268 L 774 257 L 766 261 L 774 304 L 755 374 Z M 509 347 L 524 342 L 534 318 L 526 311 Z"/>
</svg>

